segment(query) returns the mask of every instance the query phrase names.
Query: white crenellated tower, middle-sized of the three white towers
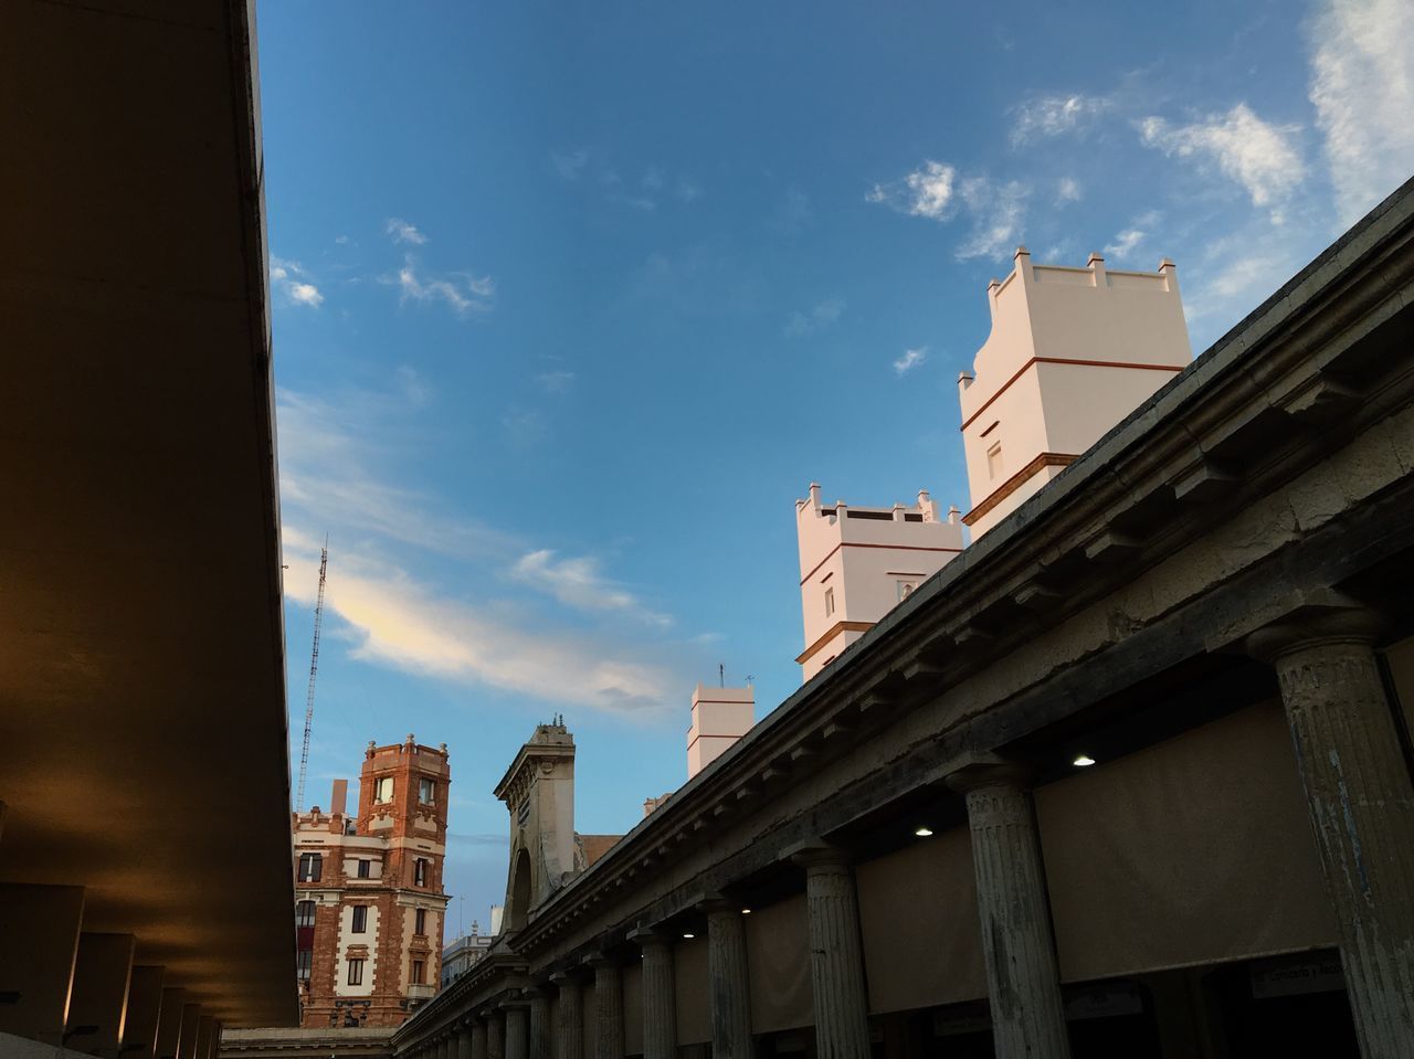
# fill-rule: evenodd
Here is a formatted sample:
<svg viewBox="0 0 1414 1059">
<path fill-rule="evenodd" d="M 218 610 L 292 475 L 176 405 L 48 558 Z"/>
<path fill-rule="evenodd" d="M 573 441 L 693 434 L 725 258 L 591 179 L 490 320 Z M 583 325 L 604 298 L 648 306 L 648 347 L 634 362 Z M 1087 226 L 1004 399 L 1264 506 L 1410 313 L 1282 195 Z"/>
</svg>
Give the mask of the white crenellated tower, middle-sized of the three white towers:
<svg viewBox="0 0 1414 1059">
<path fill-rule="evenodd" d="M 928 492 L 912 505 L 820 503 L 820 486 L 796 501 L 805 650 L 813 677 L 963 550 L 957 509 L 946 517 Z"/>
</svg>

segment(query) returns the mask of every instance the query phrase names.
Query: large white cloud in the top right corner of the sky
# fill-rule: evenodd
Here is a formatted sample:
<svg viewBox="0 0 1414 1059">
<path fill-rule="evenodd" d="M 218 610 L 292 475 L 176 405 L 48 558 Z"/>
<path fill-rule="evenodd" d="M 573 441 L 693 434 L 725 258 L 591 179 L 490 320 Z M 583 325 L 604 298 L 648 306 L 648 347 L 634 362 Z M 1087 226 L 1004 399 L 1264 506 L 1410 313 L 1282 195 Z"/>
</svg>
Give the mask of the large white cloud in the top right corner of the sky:
<svg viewBox="0 0 1414 1059">
<path fill-rule="evenodd" d="M 1311 102 L 1345 228 L 1414 172 L 1414 4 L 1322 7 L 1312 23 Z"/>
</svg>

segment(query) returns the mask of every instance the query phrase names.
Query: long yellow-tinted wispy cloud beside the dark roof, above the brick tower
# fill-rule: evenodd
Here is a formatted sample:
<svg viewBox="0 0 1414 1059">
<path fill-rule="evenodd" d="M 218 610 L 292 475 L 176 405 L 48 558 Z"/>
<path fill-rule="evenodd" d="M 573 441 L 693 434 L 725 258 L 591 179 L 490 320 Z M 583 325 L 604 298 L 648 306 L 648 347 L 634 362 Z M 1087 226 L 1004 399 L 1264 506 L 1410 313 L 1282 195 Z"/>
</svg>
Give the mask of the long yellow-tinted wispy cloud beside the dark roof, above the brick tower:
<svg viewBox="0 0 1414 1059">
<path fill-rule="evenodd" d="M 683 677 L 673 659 L 682 659 L 663 639 L 669 618 L 600 560 L 560 557 L 390 484 L 436 444 L 421 434 L 416 389 L 426 383 L 404 372 L 395 379 L 385 393 L 327 400 L 279 392 L 288 597 L 312 602 L 328 530 L 327 621 L 355 659 L 607 711 L 676 703 Z M 411 573 L 420 566 L 437 577 Z M 508 587 L 520 598 L 508 598 Z"/>
</svg>

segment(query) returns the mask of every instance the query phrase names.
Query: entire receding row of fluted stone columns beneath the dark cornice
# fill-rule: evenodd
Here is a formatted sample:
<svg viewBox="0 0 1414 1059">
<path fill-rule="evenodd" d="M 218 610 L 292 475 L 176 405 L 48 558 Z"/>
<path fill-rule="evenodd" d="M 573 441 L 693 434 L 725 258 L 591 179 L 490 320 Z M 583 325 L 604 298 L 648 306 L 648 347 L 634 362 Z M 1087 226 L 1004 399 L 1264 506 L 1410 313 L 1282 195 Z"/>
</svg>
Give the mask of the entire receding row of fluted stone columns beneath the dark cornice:
<svg viewBox="0 0 1414 1059">
<path fill-rule="evenodd" d="M 1249 640 L 1280 680 L 1325 882 L 1340 930 L 1350 1007 L 1366 1059 L 1414 1055 L 1414 785 L 1359 614 L 1270 626 Z M 966 796 L 983 956 L 998 1059 L 1069 1059 L 1046 881 L 1027 773 L 1003 759 L 949 776 Z M 868 1059 L 860 912 L 847 851 L 789 850 L 805 868 L 810 983 L 820 1059 Z M 699 906 L 707 920 L 714 1059 L 751 1059 L 742 911 Z M 674 935 L 641 928 L 645 1059 L 674 1059 Z M 805 957 L 805 954 L 802 954 Z M 585 1055 L 581 983 L 592 980 L 594 1055 Z M 551 1025 L 546 988 L 559 993 Z M 462 1019 L 417 1059 L 622 1059 L 619 964 L 600 953 L 496 1008 Z M 460 1042 L 465 1041 L 465 1045 Z"/>
</svg>

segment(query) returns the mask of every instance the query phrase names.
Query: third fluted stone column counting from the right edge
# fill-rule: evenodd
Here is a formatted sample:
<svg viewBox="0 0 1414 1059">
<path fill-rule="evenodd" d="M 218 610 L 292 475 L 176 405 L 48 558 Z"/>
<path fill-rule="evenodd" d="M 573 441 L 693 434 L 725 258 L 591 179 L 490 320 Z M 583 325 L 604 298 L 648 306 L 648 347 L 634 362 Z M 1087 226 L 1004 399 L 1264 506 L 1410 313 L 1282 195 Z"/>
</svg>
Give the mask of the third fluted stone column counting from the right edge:
<svg viewBox="0 0 1414 1059">
<path fill-rule="evenodd" d="M 809 846 L 796 850 L 792 860 L 805 867 L 819 1059 L 870 1059 L 870 994 L 848 854 Z"/>
</svg>

